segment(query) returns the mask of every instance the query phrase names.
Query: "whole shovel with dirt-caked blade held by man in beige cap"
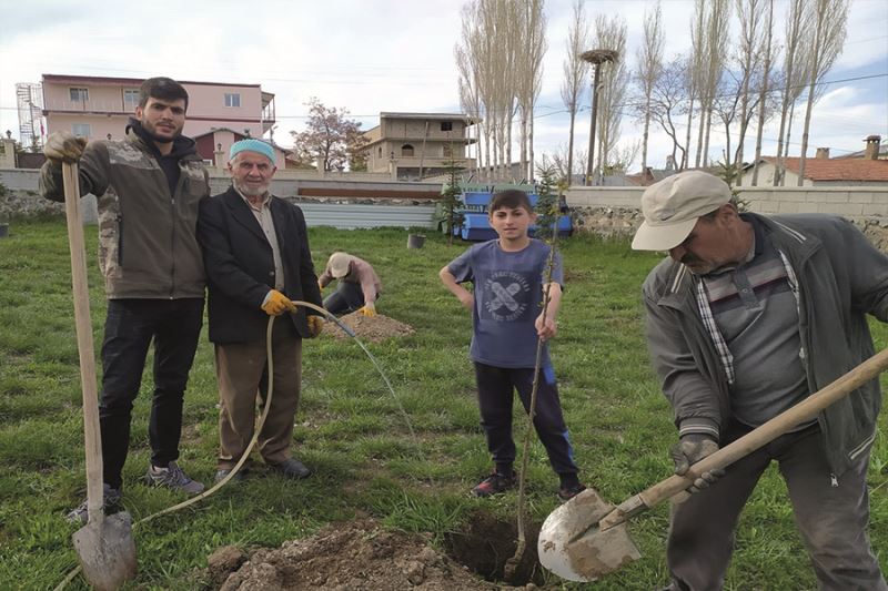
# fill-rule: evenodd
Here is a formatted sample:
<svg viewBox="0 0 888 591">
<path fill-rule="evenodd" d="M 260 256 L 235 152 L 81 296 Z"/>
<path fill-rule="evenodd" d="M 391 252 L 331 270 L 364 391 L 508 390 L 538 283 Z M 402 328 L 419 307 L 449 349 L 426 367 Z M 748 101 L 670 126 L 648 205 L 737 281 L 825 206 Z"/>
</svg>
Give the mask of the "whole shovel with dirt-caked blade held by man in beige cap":
<svg viewBox="0 0 888 591">
<path fill-rule="evenodd" d="M 693 465 L 686 476 L 672 476 L 619 506 L 587 489 L 549 513 L 539 531 L 539 562 L 568 581 L 595 581 L 642 558 L 626 521 L 689 488 L 703 472 L 725 468 L 767 445 L 844 398 L 888 368 L 888 349 L 874 355 L 833 384 L 733 444 Z M 716 483 L 717 486 L 717 483 Z"/>
</svg>

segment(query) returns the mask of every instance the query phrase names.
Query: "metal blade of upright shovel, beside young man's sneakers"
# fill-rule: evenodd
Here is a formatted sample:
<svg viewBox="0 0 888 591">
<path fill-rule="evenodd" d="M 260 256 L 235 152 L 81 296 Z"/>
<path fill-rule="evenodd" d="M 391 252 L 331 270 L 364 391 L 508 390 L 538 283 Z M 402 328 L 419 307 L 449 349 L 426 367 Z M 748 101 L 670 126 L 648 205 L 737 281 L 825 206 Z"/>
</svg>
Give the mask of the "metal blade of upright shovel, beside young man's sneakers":
<svg viewBox="0 0 888 591">
<path fill-rule="evenodd" d="M 135 578 L 132 517 L 125 511 L 90 519 L 72 536 L 83 578 L 100 591 L 120 589 Z"/>
</svg>

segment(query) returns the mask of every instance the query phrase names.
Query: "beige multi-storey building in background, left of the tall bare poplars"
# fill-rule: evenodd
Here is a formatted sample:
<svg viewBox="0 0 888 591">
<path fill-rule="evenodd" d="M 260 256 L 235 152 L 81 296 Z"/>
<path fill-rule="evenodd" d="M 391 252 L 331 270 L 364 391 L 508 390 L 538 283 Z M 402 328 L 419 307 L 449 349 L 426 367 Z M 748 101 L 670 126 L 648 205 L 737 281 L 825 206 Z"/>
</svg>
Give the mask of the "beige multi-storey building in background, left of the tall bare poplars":
<svg viewBox="0 0 888 591">
<path fill-rule="evenodd" d="M 450 160 L 473 169 L 475 160 L 466 156 L 475 142 L 467 133 L 472 124 L 462 113 L 380 113 L 380 124 L 364 133 L 367 172 L 421 179 L 442 174 Z"/>
</svg>

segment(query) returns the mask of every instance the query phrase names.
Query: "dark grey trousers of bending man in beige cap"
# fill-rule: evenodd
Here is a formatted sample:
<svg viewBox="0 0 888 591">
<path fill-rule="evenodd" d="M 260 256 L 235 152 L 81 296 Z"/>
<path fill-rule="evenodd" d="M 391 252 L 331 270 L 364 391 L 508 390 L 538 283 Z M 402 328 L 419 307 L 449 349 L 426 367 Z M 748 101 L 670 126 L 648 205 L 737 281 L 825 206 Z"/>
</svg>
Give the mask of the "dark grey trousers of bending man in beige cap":
<svg viewBox="0 0 888 591">
<path fill-rule="evenodd" d="M 749 432 L 733 422 L 722 445 Z M 869 450 L 834 480 L 820 427 L 787 434 L 728 466 L 715 485 L 674 505 L 666 547 L 672 589 L 722 589 L 734 550 L 734 530 L 759 477 L 775 460 L 789 489 L 796 526 L 823 591 L 888 591 L 867 537 Z"/>
</svg>

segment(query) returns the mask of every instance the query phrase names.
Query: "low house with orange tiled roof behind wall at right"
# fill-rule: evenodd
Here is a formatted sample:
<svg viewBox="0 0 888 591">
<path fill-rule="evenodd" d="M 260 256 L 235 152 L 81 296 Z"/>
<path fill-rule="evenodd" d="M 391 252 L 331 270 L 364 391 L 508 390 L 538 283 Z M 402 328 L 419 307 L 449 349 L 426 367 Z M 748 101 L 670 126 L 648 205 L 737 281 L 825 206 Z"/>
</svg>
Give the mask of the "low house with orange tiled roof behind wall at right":
<svg viewBox="0 0 888 591">
<path fill-rule="evenodd" d="M 862 157 L 829 157 L 828 147 L 818 147 L 815 157 L 805 161 L 805 177 L 803 186 L 858 186 L 858 185 L 887 185 L 888 160 L 879 160 L 878 135 L 866 139 L 867 147 Z M 776 156 L 764 156 L 758 164 L 758 185 L 773 186 L 776 171 Z M 784 159 L 786 173 L 785 186 L 797 186 L 799 174 L 798 157 Z M 753 164 L 744 166 L 743 184 L 750 186 L 753 183 Z"/>
</svg>

